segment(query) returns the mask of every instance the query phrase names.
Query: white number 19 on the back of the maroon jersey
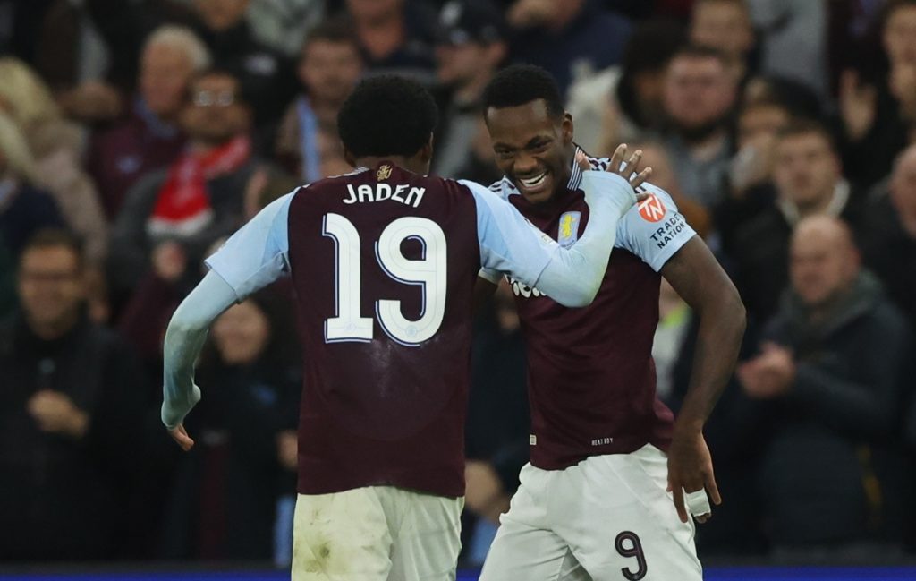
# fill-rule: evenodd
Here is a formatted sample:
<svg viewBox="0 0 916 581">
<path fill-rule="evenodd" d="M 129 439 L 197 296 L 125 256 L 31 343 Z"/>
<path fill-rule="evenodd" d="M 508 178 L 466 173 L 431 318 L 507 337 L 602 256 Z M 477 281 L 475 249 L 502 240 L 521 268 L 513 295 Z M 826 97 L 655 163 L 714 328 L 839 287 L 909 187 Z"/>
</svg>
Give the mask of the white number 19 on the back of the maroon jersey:
<svg viewBox="0 0 916 581">
<path fill-rule="evenodd" d="M 333 239 L 335 260 L 335 316 L 324 321 L 324 341 L 372 341 L 375 322 L 360 312 L 360 236 L 352 222 L 341 214 L 325 214 L 322 236 Z M 401 252 L 404 240 L 420 242 L 420 260 Z M 401 312 L 400 301 L 376 301 L 376 318 L 385 333 L 401 345 L 420 345 L 431 339 L 445 314 L 447 253 L 445 233 L 432 220 L 417 216 L 398 218 L 387 225 L 376 241 L 376 259 L 385 273 L 404 284 L 420 287 L 420 318 L 411 321 Z"/>
</svg>

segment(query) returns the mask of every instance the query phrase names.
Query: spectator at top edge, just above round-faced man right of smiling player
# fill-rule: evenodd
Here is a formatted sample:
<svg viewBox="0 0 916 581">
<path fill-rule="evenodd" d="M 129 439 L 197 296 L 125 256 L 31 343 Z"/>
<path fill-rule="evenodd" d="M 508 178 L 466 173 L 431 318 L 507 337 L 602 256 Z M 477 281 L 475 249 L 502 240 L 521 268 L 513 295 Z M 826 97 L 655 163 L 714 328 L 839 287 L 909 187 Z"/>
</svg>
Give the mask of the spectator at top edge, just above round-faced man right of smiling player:
<svg viewBox="0 0 916 581">
<path fill-rule="evenodd" d="M 746 0 L 696 0 L 690 38 L 695 45 L 720 50 L 738 82 L 757 72 L 759 55 Z"/>
</svg>

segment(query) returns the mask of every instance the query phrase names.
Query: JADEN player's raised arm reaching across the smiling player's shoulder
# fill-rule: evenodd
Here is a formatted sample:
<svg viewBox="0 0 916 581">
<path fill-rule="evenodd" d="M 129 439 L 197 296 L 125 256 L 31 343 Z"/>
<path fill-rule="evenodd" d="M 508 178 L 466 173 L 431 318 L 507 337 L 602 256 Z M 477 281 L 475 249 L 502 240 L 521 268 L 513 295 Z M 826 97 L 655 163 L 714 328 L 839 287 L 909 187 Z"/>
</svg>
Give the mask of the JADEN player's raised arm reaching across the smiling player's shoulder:
<svg viewBox="0 0 916 581">
<path fill-rule="evenodd" d="M 618 148 L 609 168 L 620 168 L 626 148 Z M 637 152 L 628 167 L 638 170 Z M 585 162 L 584 158 L 580 163 Z M 627 181 L 616 171 L 583 171 L 582 188 L 590 217 L 583 236 L 563 248 L 540 232 L 518 211 L 481 186 L 473 185 L 477 200 L 477 230 L 483 272 L 506 272 L 554 301 L 582 307 L 594 300 L 605 278 L 616 239 L 617 222 L 637 201 L 634 188 L 649 176 L 643 170 Z M 491 280 L 492 281 L 492 280 Z"/>
</svg>

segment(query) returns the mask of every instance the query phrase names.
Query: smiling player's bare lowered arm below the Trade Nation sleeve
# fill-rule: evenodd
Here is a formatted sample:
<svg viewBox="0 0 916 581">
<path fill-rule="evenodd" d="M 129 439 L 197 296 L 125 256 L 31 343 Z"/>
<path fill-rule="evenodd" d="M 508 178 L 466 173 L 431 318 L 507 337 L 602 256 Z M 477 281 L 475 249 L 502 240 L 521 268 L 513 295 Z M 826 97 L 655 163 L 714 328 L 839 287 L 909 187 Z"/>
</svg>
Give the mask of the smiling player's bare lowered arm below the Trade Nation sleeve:
<svg viewBox="0 0 916 581">
<path fill-rule="evenodd" d="M 699 317 L 690 386 L 674 425 L 668 455 L 669 487 L 678 514 L 686 522 L 683 491 L 689 494 L 705 488 L 715 504 L 722 502 L 703 425 L 735 369 L 746 317 L 735 285 L 699 236 L 680 247 L 660 272 Z M 703 514 L 702 510 L 692 512 Z M 708 514 L 697 520 L 706 518 Z"/>
</svg>

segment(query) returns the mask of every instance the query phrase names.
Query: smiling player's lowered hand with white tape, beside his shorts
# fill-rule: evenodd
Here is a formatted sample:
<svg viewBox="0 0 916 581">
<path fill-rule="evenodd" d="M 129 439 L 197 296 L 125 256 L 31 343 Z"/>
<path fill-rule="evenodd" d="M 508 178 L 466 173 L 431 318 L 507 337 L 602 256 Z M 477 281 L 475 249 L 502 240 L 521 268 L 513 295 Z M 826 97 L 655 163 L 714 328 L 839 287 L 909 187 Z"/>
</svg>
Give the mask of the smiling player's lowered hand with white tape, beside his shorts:
<svg viewBox="0 0 916 581">
<path fill-rule="evenodd" d="M 703 498 L 705 494 L 709 495 L 713 504 L 722 504 L 719 488 L 715 484 L 713 458 L 702 432 L 678 433 L 675 430 L 668 452 L 668 491 L 674 496 L 674 508 L 682 522 L 690 519 L 688 509 L 691 509 L 690 513 L 698 522 L 708 521 L 712 517 L 708 501 Z M 706 506 L 701 508 L 703 501 Z"/>
</svg>

